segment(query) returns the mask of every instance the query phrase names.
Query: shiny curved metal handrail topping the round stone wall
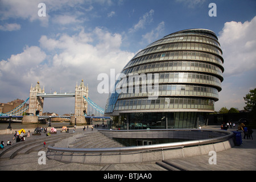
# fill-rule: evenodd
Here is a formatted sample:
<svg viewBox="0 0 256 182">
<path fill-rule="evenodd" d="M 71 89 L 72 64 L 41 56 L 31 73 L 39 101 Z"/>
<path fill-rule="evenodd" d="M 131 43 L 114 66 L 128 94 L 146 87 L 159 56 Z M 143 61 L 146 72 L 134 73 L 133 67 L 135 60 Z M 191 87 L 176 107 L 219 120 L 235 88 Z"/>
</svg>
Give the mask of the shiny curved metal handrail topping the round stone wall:
<svg viewBox="0 0 256 182">
<path fill-rule="evenodd" d="M 166 129 L 168 130 L 168 129 Z M 189 147 L 189 146 L 200 146 L 203 144 L 210 144 L 210 143 L 218 143 L 224 142 L 229 140 L 233 137 L 234 133 L 232 131 L 225 131 L 225 130 L 198 130 L 198 129 L 172 129 L 175 130 L 192 130 L 192 131 L 214 131 L 218 133 L 225 133 L 227 135 L 210 138 L 210 139 L 201 139 L 201 140 L 189 140 L 184 142 L 174 142 L 174 143 L 162 143 L 162 144 L 151 144 L 147 146 L 130 146 L 130 147 L 116 147 L 116 148 L 61 148 L 61 147 L 52 147 L 48 146 L 49 151 L 59 151 L 59 152 L 80 152 L 80 153 L 105 153 L 105 152 L 134 152 L 134 151 L 144 151 L 144 150 L 164 150 L 167 148 L 173 147 Z M 108 130 L 113 131 L 113 130 Z M 131 131 L 131 130 L 129 130 Z M 144 130 L 149 131 L 149 130 Z M 151 130 L 150 130 L 151 131 Z"/>
</svg>

